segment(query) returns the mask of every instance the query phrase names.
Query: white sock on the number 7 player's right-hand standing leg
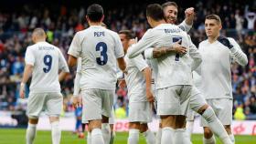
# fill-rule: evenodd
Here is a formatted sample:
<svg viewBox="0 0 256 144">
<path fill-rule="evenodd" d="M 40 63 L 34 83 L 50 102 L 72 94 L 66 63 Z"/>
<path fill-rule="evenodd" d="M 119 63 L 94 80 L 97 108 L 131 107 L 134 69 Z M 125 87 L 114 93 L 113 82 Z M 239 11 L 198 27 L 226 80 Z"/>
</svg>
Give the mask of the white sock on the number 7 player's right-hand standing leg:
<svg viewBox="0 0 256 144">
<path fill-rule="evenodd" d="M 175 129 L 175 144 L 189 144 L 190 139 L 188 138 L 188 134 L 186 129 Z"/>
</svg>

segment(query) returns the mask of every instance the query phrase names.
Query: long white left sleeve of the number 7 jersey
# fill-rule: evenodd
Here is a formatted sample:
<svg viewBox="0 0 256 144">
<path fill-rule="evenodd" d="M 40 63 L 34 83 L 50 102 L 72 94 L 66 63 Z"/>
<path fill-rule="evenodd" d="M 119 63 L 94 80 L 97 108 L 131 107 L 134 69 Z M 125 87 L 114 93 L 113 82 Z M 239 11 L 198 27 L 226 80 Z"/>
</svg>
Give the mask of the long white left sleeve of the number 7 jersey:
<svg viewBox="0 0 256 144">
<path fill-rule="evenodd" d="M 153 35 L 152 29 L 147 30 L 137 44 L 133 44 L 130 48 L 128 48 L 127 56 L 129 58 L 137 57 L 144 52 L 145 49 L 155 44 L 155 38 L 156 36 Z"/>
</svg>

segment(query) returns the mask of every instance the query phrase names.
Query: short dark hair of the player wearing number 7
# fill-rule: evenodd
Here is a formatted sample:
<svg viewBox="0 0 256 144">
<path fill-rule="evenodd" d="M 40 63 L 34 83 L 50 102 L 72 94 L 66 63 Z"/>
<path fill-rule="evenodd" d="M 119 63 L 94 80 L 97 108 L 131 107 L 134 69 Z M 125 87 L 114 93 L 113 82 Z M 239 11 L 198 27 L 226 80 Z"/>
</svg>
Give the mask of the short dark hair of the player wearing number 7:
<svg viewBox="0 0 256 144">
<path fill-rule="evenodd" d="M 146 7 L 146 16 L 151 17 L 155 21 L 164 19 L 163 8 L 159 4 L 151 4 Z"/>
</svg>

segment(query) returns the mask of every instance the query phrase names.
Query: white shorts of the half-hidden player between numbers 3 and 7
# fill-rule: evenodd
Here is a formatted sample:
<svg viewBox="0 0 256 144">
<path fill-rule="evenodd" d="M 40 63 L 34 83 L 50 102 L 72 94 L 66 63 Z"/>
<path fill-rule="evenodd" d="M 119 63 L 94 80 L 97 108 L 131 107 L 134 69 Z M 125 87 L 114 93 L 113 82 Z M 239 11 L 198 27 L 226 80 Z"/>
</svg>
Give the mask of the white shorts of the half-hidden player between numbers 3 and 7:
<svg viewBox="0 0 256 144">
<path fill-rule="evenodd" d="M 152 121 L 152 108 L 148 101 L 129 103 L 129 122 L 148 123 Z"/>
</svg>

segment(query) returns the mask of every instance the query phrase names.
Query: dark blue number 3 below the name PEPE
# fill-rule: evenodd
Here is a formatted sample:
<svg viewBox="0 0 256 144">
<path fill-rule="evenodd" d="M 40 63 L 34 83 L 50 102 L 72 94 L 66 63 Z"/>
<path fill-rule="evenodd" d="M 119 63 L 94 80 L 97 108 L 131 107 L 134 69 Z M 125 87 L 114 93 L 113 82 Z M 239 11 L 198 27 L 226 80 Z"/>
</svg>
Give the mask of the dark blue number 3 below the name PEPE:
<svg viewBox="0 0 256 144">
<path fill-rule="evenodd" d="M 100 42 L 96 45 L 96 51 L 101 52 L 101 57 L 96 57 L 97 64 L 101 66 L 107 64 L 108 62 L 107 50 L 108 50 L 108 46 L 104 42 Z"/>
</svg>

